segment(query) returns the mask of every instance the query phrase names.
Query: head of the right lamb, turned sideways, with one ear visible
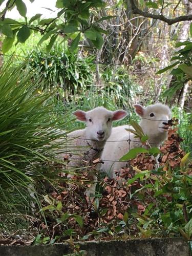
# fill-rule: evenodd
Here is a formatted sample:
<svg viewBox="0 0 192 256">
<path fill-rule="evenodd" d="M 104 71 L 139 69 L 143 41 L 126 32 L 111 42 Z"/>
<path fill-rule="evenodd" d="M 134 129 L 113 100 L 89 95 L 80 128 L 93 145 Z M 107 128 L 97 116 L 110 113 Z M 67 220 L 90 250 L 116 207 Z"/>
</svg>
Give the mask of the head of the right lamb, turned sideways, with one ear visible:
<svg viewBox="0 0 192 256">
<path fill-rule="evenodd" d="M 167 105 L 157 103 L 143 108 L 141 105 L 135 105 L 136 113 L 142 118 L 140 125 L 143 132 L 149 137 L 159 137 L 163 141 L 168 133 L 168 120 L 171 118 L 171 112 Z"/>
</svg>

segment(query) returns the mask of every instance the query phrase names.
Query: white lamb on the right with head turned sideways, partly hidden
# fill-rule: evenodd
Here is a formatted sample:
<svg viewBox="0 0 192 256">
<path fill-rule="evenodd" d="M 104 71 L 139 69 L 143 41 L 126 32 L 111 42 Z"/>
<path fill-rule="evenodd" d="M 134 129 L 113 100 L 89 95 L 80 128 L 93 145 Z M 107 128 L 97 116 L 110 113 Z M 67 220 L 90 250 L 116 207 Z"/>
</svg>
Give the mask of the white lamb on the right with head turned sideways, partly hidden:
<svg viewBox="0 0 192 256">
<path fill-rule="evenodd" d="M 158 147 L 167 138 L 168 120 L 171 118 L 171 111 L 167 105 L 157 103 L 146 108 L 136 104 L 135 112 L 141 117 L 139 125 L 144 134 L 148 136 L 148 143 L 152 147 Z M 115 171 L 125 167 L 126 162 L 118 162 L 129 150 L 135 147 L 142 147 L 139 138 L 126 129 L 133 129 L 129 125 L 122 125 L 113 128 L 109 141 L 106 141 L 101 160 L 101 170 L 108 173 L 109 177 L 116 178 Z M 130 144 L 129 144 L 130 141 Z M 117 161 L 117 162 L 116 162 Z"/>
</svg>

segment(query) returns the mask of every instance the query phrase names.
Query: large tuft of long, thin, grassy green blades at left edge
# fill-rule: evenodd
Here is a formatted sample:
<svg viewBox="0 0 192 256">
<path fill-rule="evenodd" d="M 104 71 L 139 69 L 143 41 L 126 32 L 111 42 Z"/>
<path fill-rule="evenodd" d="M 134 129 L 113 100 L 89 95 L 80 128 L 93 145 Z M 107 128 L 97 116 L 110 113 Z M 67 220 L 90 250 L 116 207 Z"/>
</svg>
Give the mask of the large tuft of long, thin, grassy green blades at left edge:
<svg viewBox="0 0 192 256">
<path fill-rule="evenodd" d="M 0 72 L 2 212 L 9 207 L 18 209 L 28 205 L 28 184 L 42 177 L 49 181 L 49 177 L 57 172 L 53 159 L 59 145 L 46 145 L 61 134 L 65 136 L 65 132 L 59 134 L 60 130 L 57 130 L 61 122 L 60 116 L 53 112 L 54 91 L 40 93 L 43 80 L 37 77 L 33 80 L 31 72 L 23 72 L 24 65 L 12 67 L 11 62 L 12 59 Z"/>
</svg>

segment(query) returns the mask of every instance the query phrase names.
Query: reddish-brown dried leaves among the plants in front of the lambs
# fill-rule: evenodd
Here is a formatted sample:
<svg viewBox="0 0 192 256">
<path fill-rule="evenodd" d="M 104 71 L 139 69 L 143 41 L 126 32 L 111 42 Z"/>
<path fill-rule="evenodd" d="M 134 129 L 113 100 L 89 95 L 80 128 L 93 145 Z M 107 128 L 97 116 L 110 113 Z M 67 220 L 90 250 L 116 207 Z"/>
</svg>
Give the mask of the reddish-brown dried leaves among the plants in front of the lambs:
<svg viewBox="0 0 192 256">
<path fill-rule="evenodd" d="M 182 139 L 177 134 L 177 129 L 169 130 L 168 139 L 164 142 L 160 151 L 162 157 L 160 165 L 175 168 L 180 164 L 182 157 L 185 155 L 180 147 Z M 53 191 L 51 197 L 55 203 L 61 202 L 61 208 L 53 211 L 57 215 L 57 223 L 55 217 L 48 221 L 49 229 L 55 234 L 62 234 L 64 229 L 73 229 L 77 237 L 84 236 L 94 230 L 103 228 L 106 225 L 115 225 L 119 221 L 124 220 L 124 214 L 131 208 L 135 208 L 138 214 L 142 214 L 148 203 L 154 198 L 150 189 L 145 189 L 145 202 L 143 203 L 137 197 L 130 199 L 130 194 L 135 190 L 142 188 L 143 184 L 139 180 L 126 186 L 118 185 L 118 180 L 129 180 L 135 176 L 135 166 L 140 170 L 151 170 L 156 166 L 155 158 L 147 154 L 139 154 L 135 159 L 129 161 L 126 168 L 121 169 L 117 173 L 117 180 L 104 178 L 98 179 L 100 185 L 100 196 L 96 198 L 88 198 L 85 195 L 87 188 L 91 186 L 91 176 L 89 172 L 83 172 L 81 175 L 73 176 L 73 184 L 61 184 L 62 192 Z M 95 170 L 92 169 L 91 172 Z M 152 175 L 154 176 L 154 175 Z M 151 177 L 152 177 L 151 176 Z M 152 179 L 145 181 L 147 184 L 154 183 Z M 48 210 L 49 211 L 49 210 Z M 46 211 L 45 211 L 46 214 Z M 61 220 L 60 222 L 58 220 Z"/>
</svg>

